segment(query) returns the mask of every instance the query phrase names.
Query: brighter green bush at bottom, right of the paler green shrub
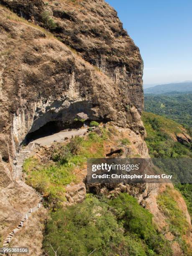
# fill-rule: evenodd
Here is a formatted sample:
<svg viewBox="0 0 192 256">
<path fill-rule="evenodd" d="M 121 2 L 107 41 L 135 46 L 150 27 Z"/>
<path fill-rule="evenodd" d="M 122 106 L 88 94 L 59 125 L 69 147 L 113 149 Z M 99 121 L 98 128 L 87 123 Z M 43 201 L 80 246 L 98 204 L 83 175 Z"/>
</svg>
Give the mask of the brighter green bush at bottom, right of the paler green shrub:
<svg viewBox="0 0 192 256">
<path fill-rule="evenodd" d="M 135 198 L 128 194 L 120 194 L 109 204 L 115 208 L 117 218 L 123 223 L 125 230 L 137 234 L 154 253 L 172 255 L 169 242 L 156 231 L 152 224 L 152 214 L 138 205 Z"/>
</svg>

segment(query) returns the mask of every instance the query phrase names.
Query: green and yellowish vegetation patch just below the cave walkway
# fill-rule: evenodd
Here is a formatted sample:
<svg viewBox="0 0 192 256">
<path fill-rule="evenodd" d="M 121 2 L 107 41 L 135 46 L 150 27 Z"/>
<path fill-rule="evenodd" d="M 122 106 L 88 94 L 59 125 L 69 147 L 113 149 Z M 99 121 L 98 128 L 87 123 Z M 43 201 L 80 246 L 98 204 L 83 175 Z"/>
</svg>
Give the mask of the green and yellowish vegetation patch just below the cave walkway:
<svg viewBox="0 0 192 256">
<path fill-rule="evenodd" d="M 103 142 L 106 138 L 105 129 L 102 136 L 91 132 L 87 138 L 74 137 L 67 145 L 57 143 L 52 146 L 47 152 L 52 161 L 39 164 L 34 157 L 26 159 L 23 166 L 26 183 L 43 193 L 47 206 L 56 210 L 66 200 L 66 185 L 78 182 L 73 172 L 75 166 L 83 168 L 87 158 L 104 157 Z"/>
</svg>

